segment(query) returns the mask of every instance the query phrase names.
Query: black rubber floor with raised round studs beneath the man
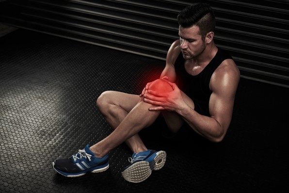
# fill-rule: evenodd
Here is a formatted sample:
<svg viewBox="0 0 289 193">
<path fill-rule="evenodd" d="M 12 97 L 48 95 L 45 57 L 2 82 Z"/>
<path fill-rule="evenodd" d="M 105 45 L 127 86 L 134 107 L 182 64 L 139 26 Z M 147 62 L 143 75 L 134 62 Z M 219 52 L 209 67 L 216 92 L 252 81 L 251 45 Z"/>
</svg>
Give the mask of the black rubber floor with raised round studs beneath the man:
<svg viewBox="0 0 289 193">
<path fill-rule="evenodd" d="M 47 34 L 16 30 L 0 38 L 0 192 L 289 192 L 289 89 L 241 79 L 223 142 L 162 137 L 161 119 L 144 129 L 165 166 L 134 184 L 121 177 L 131 152 L 110 153 L 110 168 L 68 178 L 51 162 L 94 144 L 112 129 L 96 108 L 106 90 L 139 94 L 163 61 Z"/>
</svg>

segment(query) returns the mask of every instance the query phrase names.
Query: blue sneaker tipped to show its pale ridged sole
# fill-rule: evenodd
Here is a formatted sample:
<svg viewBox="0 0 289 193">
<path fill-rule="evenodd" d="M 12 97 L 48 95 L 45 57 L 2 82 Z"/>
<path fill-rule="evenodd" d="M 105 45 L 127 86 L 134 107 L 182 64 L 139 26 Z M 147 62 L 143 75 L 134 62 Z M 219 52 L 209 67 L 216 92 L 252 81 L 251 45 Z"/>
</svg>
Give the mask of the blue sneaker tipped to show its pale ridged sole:
<svg viewBox="0 0 289 193">
<path fill-rule="evenodd" d="M 121 173 L 125 180 L 139 183 L 147 179 L 153 170 L 160 170 L 166 160 L 165 151 L 147 150 L 133 153 L 130 164 Z"/>
</svg>

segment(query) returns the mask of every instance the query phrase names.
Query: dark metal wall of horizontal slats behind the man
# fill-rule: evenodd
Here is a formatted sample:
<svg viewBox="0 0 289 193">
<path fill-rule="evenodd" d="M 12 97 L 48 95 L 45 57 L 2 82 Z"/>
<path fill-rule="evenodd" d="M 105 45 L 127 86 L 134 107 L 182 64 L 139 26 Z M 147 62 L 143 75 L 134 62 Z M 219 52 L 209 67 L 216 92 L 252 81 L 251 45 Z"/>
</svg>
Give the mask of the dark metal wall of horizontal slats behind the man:
<svg viewBox="0 0 289 193">
<path fill-rule="evenodd" d="M 165 60 L 177 13 L 194 0 L 6 0 L 0 22 Z M 241 76 L 289 88 L 289 1 L 205 0 L 215 10 L 215 42 Z"/>
</svg>

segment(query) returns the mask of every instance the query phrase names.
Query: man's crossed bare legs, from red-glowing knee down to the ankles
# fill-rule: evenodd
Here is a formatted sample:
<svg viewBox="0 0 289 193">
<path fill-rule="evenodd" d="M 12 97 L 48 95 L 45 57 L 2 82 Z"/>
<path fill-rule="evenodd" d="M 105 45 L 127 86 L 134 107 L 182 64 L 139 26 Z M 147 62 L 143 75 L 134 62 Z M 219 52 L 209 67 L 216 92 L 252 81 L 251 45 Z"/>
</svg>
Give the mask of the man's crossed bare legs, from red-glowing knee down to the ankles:
<svg viewBox="0 0 289 193">
<path fill-rule="evenodd" d="M 149 89 L 170 92 L 172 87 L 166 80 L 154 81 Z M 96 157 L 102 157 L 124 141 L 133 152 L 147 150 L 139 135 L 141 129 L 150 126 L 161 113 L 149 111 L 151 104 L 144 102 L 139 96 L 115 91 L 104 92 L 97 100 L 99 110 L 104 114 L 107 122 L 115 129 L 108 137 L 90 147 Z M 169 129 L 173 132 L 183 124 L 182 118 L 173 112 L 163 112 Z"/>
</svg>

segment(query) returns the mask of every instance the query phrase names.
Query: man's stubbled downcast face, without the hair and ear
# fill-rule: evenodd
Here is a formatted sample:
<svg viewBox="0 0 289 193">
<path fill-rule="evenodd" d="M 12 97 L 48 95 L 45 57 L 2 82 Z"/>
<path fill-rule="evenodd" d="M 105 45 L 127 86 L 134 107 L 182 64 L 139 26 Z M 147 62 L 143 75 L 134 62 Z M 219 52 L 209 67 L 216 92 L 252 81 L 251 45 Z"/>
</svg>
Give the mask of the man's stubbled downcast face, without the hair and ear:
<svg viewBox="0 0 289 193">
<path fill-rule="evenodd" d="M 205 41 L 199 34 L 199 27 L 193 26 L 183 28 L 179 26 L 178 35 L 180 37 L 180 48 L 184 59 L 190 60 L 199 56 L 206 48 Z"/>
</svg>

